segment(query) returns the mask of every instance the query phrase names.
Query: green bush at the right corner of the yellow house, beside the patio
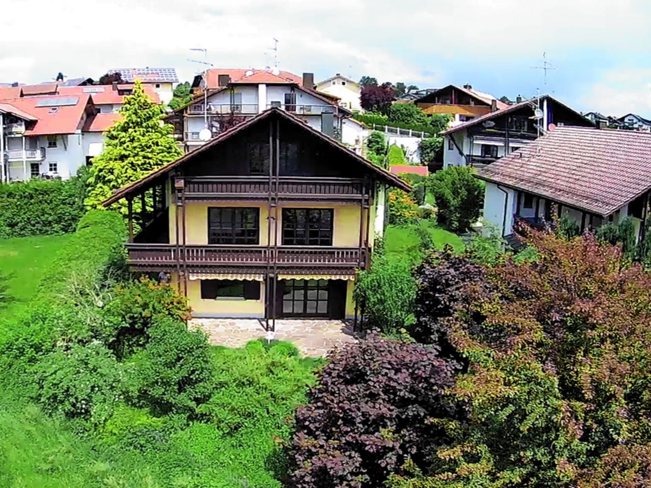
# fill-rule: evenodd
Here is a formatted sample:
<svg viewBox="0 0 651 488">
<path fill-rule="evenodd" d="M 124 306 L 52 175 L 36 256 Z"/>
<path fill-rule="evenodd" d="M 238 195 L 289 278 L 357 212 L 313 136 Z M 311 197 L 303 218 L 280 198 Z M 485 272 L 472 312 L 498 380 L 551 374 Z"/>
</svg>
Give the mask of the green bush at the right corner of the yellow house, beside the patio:
<svg viewBox="0 0 651 488">
<path fill-rule="evenodd" d="M 355 280 L 355 303 L 372 327 L 394 332 L 413 321 L 416 286 L 407 260 L 374 258 L 369 271 L 359 271 Z"/>
</svg>

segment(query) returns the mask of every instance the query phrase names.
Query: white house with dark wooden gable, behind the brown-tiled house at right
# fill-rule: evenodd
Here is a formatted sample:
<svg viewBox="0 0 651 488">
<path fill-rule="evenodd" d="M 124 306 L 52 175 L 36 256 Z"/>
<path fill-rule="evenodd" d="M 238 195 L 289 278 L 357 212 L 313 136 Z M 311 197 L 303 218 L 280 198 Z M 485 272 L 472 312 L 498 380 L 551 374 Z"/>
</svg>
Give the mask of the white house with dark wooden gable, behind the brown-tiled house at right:
<svg viewBox="0 0 651 488">
<path fill-rule="evenodd" d="M 593 124 L 549 95 L 507 105 L 441 132 L 443 167 L 487 165 L 534 141 L 554 126 Z"/>
</svg>

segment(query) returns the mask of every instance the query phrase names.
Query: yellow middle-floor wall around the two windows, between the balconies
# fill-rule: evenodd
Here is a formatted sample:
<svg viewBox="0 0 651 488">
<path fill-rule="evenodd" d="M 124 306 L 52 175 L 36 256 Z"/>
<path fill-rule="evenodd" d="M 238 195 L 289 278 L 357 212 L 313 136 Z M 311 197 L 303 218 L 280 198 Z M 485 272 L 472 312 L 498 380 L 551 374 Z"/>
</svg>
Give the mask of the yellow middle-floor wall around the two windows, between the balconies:
<svg viewBox="0 0 651 488">
<path fill-rule="evenodd" d="M 260 245 L 267 245 L 267 206 L 260 202 L 186 202 L 186 244 L 204 245 L 208 243 L 208 207 L 258 207 L 260 208 Z M 332 208 L 334 210 L 333 246 L 357 247 L 359 245 L 359 204 L 327 204 L 315 202 L 283 203 L 279 206 L 277 226 L 278 243 L 282 242 L 283 208 Z M 373 206 L 371 207 L 373 208 Z M 182 222 L 179 208 L 179 223 Z M 169 208 L 169 239 L 176 243 L 176 206 Z M 273 210 L 272 210 L 273 213 Z M 366 212 L 363 212 L 363 226 L 366 228 Z M 373 211 L 371 221 L 373 223 Z M 272 224 L 273 232 L 273 224 Z M 370 240 L 373 236 L 370 232 Z M 272 241 L 273 243 L 273 241 Z"/>
</svg>

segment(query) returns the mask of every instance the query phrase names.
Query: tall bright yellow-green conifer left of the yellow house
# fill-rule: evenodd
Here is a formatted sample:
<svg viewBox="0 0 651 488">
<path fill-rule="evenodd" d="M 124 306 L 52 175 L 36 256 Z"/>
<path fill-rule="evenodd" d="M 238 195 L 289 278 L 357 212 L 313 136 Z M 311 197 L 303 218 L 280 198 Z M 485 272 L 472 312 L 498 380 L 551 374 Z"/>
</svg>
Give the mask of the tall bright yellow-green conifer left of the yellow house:
<svg viewBox="0 0 651 488">
<path fill-rule="evenodd" d="M 182 156 L 182 151 L 170 137 L 173 127 L 161 124 L 163 107 L 146 96 L 139 80 L 133 95 L 124 97 L 120 109 L 122 120 L 106 132 L 104 150 L 94 157 L 88 179 L 87 208 L 101 208 L 101 203 L 113 190 L 133 183 Z M 126 215 L 126 202 L 116 204 Z M 140 202 L 133 202 L 140 209 Z"/>
</svg>

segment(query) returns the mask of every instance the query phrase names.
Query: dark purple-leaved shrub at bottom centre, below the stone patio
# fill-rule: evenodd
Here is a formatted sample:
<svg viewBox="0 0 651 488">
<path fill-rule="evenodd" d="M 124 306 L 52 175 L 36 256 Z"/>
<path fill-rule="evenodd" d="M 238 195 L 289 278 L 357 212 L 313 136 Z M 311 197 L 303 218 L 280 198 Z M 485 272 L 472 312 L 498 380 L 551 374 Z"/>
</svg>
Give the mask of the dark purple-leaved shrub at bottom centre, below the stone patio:
<svg viewBox="0 0 651 488">
<path fill-rule="evenodd" d="M 296 413 L 290 487 L 380 487 L 406 460 L 445 444 L 440 419 L 464 416 L 445 394 L 454 366 L 433 349 L 370 334 L 335 350 Z"/>
</svg>

